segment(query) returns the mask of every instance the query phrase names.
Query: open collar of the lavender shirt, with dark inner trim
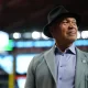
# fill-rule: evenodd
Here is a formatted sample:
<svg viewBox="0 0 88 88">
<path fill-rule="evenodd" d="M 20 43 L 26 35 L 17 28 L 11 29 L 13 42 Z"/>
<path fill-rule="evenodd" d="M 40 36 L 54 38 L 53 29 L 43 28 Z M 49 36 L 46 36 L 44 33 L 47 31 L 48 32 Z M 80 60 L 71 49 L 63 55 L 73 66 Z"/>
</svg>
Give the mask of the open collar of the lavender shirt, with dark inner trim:
<svg viewBox="0 0 88 88">
<path fill-rule="evenodd" d="M 76 46 L 72 44 L 68 48 L 65 50 L 64 53 L 76 54 Z M 55 45 L 55 54 L 62 54 L 61 50 L 56 45 Z"/>
</svg>

